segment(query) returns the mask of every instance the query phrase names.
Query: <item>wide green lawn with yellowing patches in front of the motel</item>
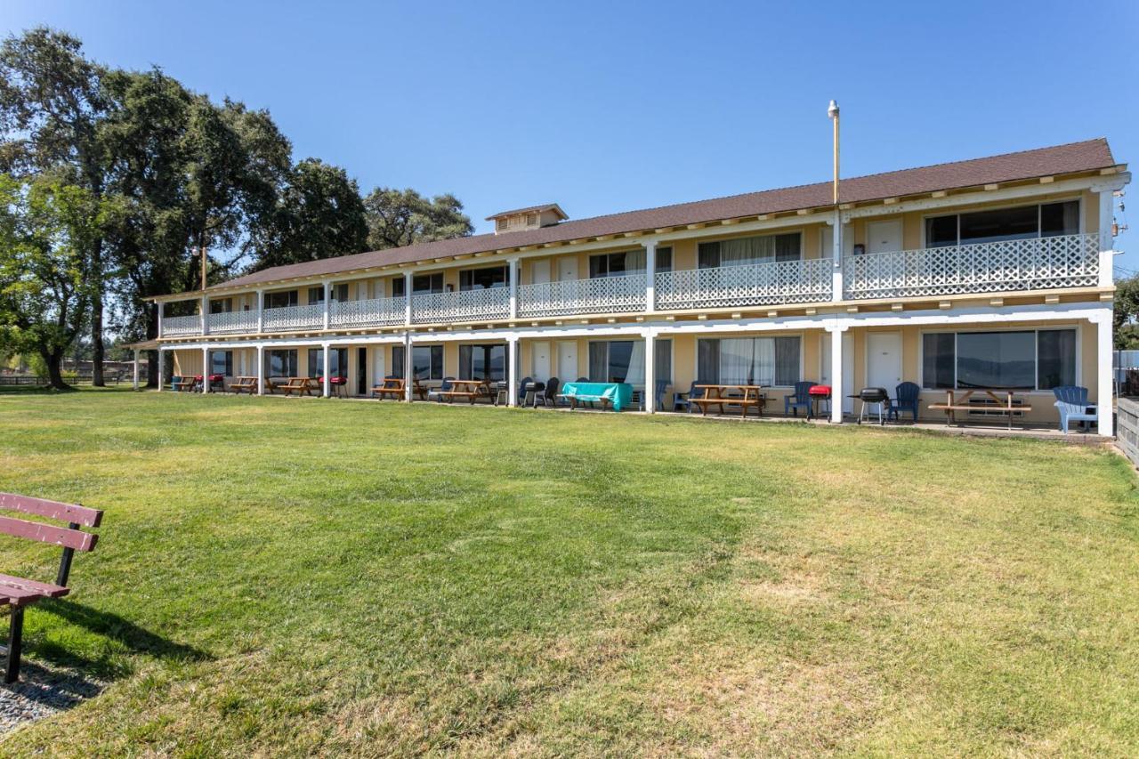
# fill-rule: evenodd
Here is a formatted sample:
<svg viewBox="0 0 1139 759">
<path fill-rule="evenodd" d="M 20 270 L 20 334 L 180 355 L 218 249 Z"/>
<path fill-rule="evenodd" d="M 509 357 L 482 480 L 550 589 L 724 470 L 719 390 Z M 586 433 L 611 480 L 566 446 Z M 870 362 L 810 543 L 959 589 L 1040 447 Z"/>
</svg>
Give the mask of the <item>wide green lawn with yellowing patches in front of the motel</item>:
<svg viewBox="0 0 1139 759">
<path fill-rule="evenodd" d="M 1134 483 L 1023 440 L 8 393 L 0 489 L 107 511 L 28 661 L 109 685 L 0 752 L 1134 756 Z"/>
</svg>

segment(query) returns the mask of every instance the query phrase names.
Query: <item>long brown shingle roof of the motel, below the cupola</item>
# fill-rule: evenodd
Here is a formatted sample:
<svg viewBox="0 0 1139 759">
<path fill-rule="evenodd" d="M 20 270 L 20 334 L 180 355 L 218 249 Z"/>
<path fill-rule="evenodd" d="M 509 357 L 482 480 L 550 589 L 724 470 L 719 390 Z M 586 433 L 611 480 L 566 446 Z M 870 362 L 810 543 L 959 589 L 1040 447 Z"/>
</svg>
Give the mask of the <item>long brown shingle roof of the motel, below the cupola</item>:
<svg viewBox="0 0 1139 759">
<path fill-rule="evenodd" d="M 1116 165 L 1107 140 L 1098 138 L 1055 147 L 1006 153 L 988 158 L 941 163 L 919 169 L 904 169 L 882 174 L 843 179 L 839 182 L 842 203 L 880 201 L 887 197 L 917 195 L 934 190 L 976 187 L 1052 174 L 1093 171 Z M 374 267 L 415 263 L 456 255 L 469 255 L 501 250 L 559 243 L 603 235 L 620 235 L 646 229 L 738 219 L 763 213 L 797 211 L 833 205 L 831 182 L 801 185 L 784 189 L 747 193 L 730 197 L 680 203 L 644 211 L 626 211 L 592 219 L 565 221 L 551 227 L 515 231 L 509 235 L 475 235 L 434 243 L 420 243 L 387 251 L 370 251 L 319 261 L 273 267 L 231 279 L 218 287 L 255 285 L 295 277 L 320 277 Z"/>
</svg>

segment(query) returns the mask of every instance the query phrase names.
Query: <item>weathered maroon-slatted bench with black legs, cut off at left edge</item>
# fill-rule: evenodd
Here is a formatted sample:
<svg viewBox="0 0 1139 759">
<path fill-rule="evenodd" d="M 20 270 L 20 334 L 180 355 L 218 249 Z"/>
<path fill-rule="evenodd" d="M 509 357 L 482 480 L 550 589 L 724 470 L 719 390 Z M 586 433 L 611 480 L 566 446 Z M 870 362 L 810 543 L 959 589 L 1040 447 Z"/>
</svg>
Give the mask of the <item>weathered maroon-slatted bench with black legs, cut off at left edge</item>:
<svg viewBox="0 0 1139 759">
<path fill-rule="evenodd" d="M 24 635 L 24 609 L 44 598 L 58 598 L 66 596 L 71 589 L 67 587 L 67 577 L 71 574 L 72 557 L 76 550 L 91 550 L 99 536 L 83 532 L 79 528 L 99 527 L 103 521 L 103 512 L 85 506 L 73 504 L 60 504 L 42 498 L 30 498 L 27 496 L 16 496 L 8 492 L 0 492 L 0 509 L 8 512 L 19 512 L 49 520 L 67 522 L 66 528 L 46 524 L 43 522 L 28 522 L 26 520 L 0 516 L 0 533 L 15 538 L 26 538 L 39 540 L 55 546 L 63 546 L 63 557 L 59 560 L 59 571 L 56 573 L 55 583 L 26 580 L 19 577 L 0 574 L 0 606 L 10 606 L 8 622 L 8 645 L 3 653 L 7 656 L 5 668 L 5 683 L 15 683 L 19 677 L 21 643 Z"/>
</svg>

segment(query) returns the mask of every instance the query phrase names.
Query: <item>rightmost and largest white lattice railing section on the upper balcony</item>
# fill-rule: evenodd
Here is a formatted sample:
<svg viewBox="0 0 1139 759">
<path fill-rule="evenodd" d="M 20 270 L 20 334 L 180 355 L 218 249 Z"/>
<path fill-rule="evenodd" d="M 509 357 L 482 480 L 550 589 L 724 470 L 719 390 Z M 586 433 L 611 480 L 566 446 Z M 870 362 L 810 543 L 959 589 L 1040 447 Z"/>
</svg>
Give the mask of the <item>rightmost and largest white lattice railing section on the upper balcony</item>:
<svg viewBox="0 0 1139 759">
<path fill-rule="evenodd" d="M 855 255 L 845 260 L 843 279 L 850 300 L 1092 287 L 1099 284 L 1099 236 Z"/>
</svg>

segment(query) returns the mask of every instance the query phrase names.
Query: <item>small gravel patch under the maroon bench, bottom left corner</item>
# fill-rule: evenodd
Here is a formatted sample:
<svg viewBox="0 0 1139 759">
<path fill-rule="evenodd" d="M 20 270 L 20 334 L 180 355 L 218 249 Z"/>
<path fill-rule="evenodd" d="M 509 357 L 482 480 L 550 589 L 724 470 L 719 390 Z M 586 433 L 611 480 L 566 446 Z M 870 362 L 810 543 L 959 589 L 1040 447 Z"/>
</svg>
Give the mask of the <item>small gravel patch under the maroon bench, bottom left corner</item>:
<svg viewBox="0 0 1139 759">
<path fill-rule="evenodd" d="M 99 695 L 105 683 L 75 670 L 24 660 L 19 682 L 0 685 L 0 736 Z"/>
</svg>

